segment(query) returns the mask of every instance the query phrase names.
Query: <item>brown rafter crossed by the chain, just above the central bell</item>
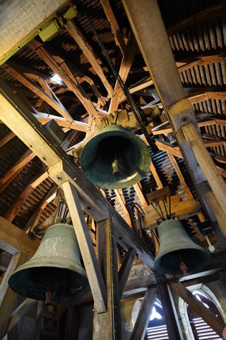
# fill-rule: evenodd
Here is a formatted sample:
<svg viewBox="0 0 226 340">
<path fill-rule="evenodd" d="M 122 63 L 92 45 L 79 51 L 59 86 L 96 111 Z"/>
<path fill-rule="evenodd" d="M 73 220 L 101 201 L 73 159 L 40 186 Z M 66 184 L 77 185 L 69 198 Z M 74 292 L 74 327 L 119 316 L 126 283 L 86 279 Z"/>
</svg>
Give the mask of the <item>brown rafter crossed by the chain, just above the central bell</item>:
<svg viewBox="0 0 226 340">
<path fill-rule="evenodd" d="M 121 81 L 123 83 L 126 82 L 126 79 L 128 77 L 129 71 L 131 69 L 133 59 L 136 55 L 136 52 L 138 51 L 138 45 L 136 43 L 136 39 L 134 38 L 133 33 L 131 32 L 129 35 L 129 40 L 126 45 L 126 52 L 121 60 L 121 65 L 119 68 L 119 77 L 121 77 Z M 121 95 L 123 94 L 121 86 L 119 85 L 119 81 L 116 81 L 116 84 L 114 86 L 114 94 L 112 97 L 112 101 L 109 105 L 109 113 L 114 113 L 114 111 L 117 110 Z"/>
</svg>

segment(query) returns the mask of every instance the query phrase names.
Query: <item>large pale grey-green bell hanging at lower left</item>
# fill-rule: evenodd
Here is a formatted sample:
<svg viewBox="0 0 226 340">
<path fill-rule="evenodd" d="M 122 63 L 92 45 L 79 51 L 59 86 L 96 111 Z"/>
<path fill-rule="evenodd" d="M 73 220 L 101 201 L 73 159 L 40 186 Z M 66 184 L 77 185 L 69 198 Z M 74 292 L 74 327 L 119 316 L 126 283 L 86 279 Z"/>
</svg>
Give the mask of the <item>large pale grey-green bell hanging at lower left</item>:
<svg viewBox="0 0 226 340">
<path fill-rule="evenodd" d="M 8 285 L 20 295 L 49 303 L 87 293 L 90 286 L 73 226 L 49 227 L 35 255 L 18 267 Z"/>
</svg>

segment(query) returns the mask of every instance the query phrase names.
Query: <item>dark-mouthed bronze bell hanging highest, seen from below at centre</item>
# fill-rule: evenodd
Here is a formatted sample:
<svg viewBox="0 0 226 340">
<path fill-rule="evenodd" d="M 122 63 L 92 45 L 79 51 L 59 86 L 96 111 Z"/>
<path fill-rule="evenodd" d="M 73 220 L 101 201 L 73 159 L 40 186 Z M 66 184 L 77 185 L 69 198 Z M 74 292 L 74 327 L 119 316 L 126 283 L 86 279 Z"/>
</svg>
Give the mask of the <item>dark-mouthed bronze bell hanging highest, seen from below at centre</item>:
<svg viewBox="0 0 226 340">
<path fill-rule="evenodd" d="M 85 176 L 102 188 L 126 188 L 140 181 L 150 168 L 150 152 L 140 137 L 121 125 L 97 130 L 81 152 Z"/>
</svg>

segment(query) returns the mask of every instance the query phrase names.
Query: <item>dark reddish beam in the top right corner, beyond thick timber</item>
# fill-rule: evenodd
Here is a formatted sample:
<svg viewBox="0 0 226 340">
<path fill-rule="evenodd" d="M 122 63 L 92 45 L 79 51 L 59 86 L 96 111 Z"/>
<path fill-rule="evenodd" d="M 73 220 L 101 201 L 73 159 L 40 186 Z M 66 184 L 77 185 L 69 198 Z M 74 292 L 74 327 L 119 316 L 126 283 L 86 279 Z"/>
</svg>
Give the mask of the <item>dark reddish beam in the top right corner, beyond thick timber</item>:
<svg viewBox="0 0 226 340">
<path fill-rule="evenodd" d="M 179 33 L 182 30 L 186 30 L 191 26 L 195 26 L 197 23 L 202 23 L 203 21 L 208 21 L 210 18 L 218 18 L 220 16 L 224 16 L 226 13 L 226 4 L 223 1 L 221 4 L 215 4 L 208 8 L 195 13 L 193 16 L 189 16 L 189 18 L 184 19 L 179 23 L 175 23 L 174 25 L 167 28 L 167 34 L 173 35 L 175 33 Z"/>
</svg>

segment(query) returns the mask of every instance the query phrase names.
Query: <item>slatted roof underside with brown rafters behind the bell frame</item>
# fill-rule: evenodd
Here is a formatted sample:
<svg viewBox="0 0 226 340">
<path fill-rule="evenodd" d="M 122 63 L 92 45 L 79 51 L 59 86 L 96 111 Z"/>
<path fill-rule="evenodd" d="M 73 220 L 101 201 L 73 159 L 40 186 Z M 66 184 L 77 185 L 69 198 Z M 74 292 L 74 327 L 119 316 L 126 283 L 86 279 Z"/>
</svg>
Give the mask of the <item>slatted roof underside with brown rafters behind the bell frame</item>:
<svg viewBox="0 0 226 340">
<path fill-rule="evenodd" d="M 163 0 L 159 5 L 185 94 L 194 106 L 206 147 L 225 177 L 225 1 Z M 85 0 L 83 6 L 136 103 L 141 108 L 156 104 L 162 108 L 121 1 Z M 81 142 L 102 115 L 130 110 L 82 8 L 77 10 L 76 18 L 52 40 L 43 43 L 36 38 L 0 68 L 1 79 L 40 123 L 55 119 L 64 128 L 65 150 Z M 52 78 L 56 73 L 62 79 L 59 84 Z M 122 191 L 103 191 L 131 226 L 135 203 L 145 208 L 147 194 L 157 188 L 169 185 L 182 200 L 197 198 L 164 111 L 151 128 L 159 151 L 150 150 L 153 165 L 145 178 Z M 40 159 L 4 124 L 0 124 L 0 151 L 0 215 L 27 231 L 42 225 L 57 209 L 57 203 L 48 200 L 57 186 Z M 196 227 L 199 220 L 195 215 L 186 224 L 196 241 L 203 242 Z"/>
</svg>

